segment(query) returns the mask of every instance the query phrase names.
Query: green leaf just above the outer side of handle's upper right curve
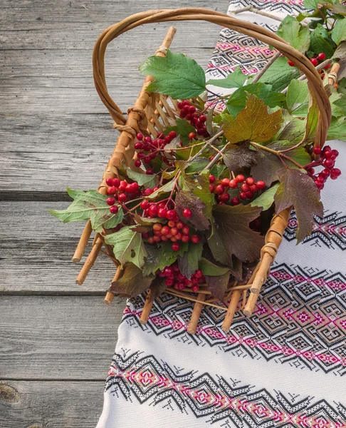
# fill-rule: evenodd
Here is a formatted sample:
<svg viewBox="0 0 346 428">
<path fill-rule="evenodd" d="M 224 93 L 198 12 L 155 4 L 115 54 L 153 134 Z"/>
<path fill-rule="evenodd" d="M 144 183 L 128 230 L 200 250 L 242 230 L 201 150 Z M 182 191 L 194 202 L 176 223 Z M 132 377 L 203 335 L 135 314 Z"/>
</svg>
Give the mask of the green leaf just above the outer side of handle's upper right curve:
<svg viewBox="0 0 346 428">
<path fill-rule="evenodd" d="M 293 16 L 285 16 L 276 34 L 300 52 L 304 53 L 309 49 L 310 30 L 303 27 Z"/>
</svg>

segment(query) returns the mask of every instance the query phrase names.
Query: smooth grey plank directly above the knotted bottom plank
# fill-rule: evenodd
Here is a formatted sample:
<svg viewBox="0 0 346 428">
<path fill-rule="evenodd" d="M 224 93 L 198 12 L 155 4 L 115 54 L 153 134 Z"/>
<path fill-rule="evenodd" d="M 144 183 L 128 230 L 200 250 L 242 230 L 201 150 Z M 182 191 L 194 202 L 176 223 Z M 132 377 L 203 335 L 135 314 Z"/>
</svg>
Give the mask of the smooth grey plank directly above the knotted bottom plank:
<svg viewBox="0 0 346 428">
<path fill-rule="evenodd" d="M 3 380 L 104 380 L 125 301 L 100 297 L 2 296 Z"/>
</svg>

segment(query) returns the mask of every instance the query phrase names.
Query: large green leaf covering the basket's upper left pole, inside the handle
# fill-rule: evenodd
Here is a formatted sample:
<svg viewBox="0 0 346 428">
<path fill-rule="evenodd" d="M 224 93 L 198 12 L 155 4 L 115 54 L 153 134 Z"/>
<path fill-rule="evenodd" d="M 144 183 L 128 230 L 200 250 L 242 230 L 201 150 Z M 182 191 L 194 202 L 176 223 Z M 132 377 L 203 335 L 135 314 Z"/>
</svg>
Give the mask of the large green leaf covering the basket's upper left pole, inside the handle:
<svg viewBox="0 0 346 428">
<path fill-rule="evenodd" d="M 165 57 L 150 56 L 140 65 L 145 76 L 153 76 L 147 91 L 164 93 L 174 99 L 194 98 L 206 89 L 203 68 L 184 54 L 167 51 Z"/>
</svg>

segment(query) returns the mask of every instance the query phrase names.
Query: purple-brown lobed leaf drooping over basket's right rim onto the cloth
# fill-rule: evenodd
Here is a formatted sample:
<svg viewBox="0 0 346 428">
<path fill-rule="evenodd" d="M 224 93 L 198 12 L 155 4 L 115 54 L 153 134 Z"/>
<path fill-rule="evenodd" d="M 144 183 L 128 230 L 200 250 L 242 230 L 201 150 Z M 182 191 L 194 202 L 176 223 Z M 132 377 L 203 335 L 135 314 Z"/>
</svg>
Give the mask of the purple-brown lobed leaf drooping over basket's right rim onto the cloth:
<svg viewBox="0 0 346 428">
<path fill-rule="evenodd" d="M 278 171 L 280 185 L 274 196 L 276 213 L 293 206 L 298 220 L 298 243 L 313 230 L 313 215 L 323 217 L 320 192 L 312 178 L 299 169 Z"/>
</svg>

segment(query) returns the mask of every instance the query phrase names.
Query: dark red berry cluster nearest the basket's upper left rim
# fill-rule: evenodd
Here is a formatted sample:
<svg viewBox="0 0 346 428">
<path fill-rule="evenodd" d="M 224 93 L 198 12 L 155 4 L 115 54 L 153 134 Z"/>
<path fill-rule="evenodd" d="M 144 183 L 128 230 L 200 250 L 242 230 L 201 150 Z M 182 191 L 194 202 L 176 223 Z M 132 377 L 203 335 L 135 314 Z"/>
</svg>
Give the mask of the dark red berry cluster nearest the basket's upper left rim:
<svg viewBox="0 0 346 428">
<path fill-rule="evenodd" d="M 171 131 L 167 136 L 164 136 L 164 133 L 159 133 L 157 139 L 153 139 L 149 136 L 144 137 L 141 133 L 137 133 L 137 143 L 135 143 L 137 160 L 135 161 L 135 165 L 139 167 L 142 163 L 145 163 L 147 167 L 150 167 L 151 161 L 157 158 L 157 156 L 160 156 L 162 161 L 170 165 L 162 149 L 176 137 L 177 133 L 175 131 Z M 152 175 L 153 170 L 147 168 L 146 173 L 147 175 Z"/>
</svg>

